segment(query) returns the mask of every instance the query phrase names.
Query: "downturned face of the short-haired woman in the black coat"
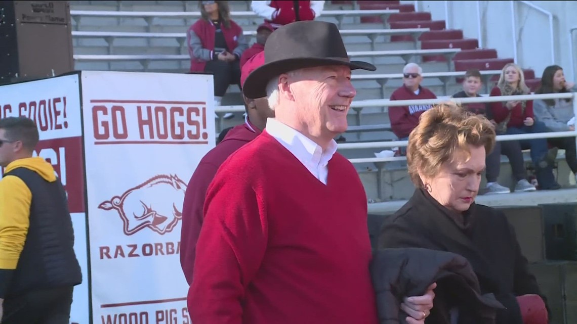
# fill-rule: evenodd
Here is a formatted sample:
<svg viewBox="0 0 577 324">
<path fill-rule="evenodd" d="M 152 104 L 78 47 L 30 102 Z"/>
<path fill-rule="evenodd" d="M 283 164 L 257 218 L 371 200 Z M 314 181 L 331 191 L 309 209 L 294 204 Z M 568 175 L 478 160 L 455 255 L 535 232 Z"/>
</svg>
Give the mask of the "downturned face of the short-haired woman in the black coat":
<svg viewBox="0 0 577 324">
<path fill-rule="evenodd" d="M 469 145 L 469 150 L 469 159 L 466 152 L 456 153 L 432 178 L 421 176 L 422 182 L 429 184 L 430 195 L 445 208 L 458 213 L 473 204 L 485 170 L 485 147 Z"/>
</svg>

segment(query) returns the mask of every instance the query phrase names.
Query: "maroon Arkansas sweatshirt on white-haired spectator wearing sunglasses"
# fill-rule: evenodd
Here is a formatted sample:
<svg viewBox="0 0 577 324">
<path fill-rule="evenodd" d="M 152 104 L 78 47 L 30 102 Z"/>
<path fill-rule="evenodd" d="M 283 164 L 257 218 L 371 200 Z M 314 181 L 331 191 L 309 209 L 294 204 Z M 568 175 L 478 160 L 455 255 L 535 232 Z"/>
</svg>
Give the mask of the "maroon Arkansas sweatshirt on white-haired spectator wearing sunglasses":
<svg viewBox="0 0 577 324">
<path fill-rule="evenodd" d="M 437 99 L 427 88 L 419 86 L 419 94 L 415 95 L 411 89 L 401 86 L 391 95 L 391 100 L 417 100 L 417 99 Z M 419 125 L 419 116 L 433 105 L 419 104 L 413 106 L 389 107 L 389 120 L 391 120 L 391 129 L 398 138 L 409 137 L 409 134 L 417 125 Z"/>
</svg>

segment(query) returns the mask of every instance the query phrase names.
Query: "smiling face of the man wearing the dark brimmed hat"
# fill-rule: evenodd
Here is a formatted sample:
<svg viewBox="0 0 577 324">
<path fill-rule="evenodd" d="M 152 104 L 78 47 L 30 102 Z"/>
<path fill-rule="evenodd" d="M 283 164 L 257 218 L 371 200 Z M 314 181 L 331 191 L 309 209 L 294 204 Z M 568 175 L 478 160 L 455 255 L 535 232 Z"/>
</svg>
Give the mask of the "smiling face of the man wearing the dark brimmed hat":
<svg viewBox="0 0 577 324">
<path fill-rule="evenodd" d="M 276 112 L 281 122 L 313 140 L 327 143 L 347 130 L 347 112 L 357 95 L 349 67 L 301 69 L 282 74 L 280 82 L 281 96 L 292 101 L 293 107 L 280 115 L 280 111 Z"/>
</svg>

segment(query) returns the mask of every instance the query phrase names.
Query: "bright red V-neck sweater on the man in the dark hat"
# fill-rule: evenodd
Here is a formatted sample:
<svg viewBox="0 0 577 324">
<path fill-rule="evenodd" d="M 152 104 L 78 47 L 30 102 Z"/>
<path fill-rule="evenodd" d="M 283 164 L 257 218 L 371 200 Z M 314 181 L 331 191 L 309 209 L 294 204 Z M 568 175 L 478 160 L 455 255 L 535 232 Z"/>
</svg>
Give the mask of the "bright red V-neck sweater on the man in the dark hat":
<svg viewBox="0 0 577 324">
<path fill-rule="evenodd" d="M 194 324 L 377 324 L 364 188 L 335 153 L 325 186 L 271 135 L 208 188 L 188 310 Z"/>
</svg>

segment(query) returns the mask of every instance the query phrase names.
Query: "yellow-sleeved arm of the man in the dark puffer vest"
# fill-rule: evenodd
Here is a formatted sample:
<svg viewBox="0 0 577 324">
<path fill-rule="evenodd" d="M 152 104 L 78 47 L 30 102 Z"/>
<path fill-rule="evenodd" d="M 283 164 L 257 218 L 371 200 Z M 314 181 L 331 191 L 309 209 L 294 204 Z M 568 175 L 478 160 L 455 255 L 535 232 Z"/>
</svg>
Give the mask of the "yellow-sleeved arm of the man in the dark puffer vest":
<svg viewBox="0 0 577 324">
<path fill-rule="evenodd" d="M 32 193 L 16 176 L 0 181 L 0 299 L 4 299 L 26 242 Z"/>
</svg>

